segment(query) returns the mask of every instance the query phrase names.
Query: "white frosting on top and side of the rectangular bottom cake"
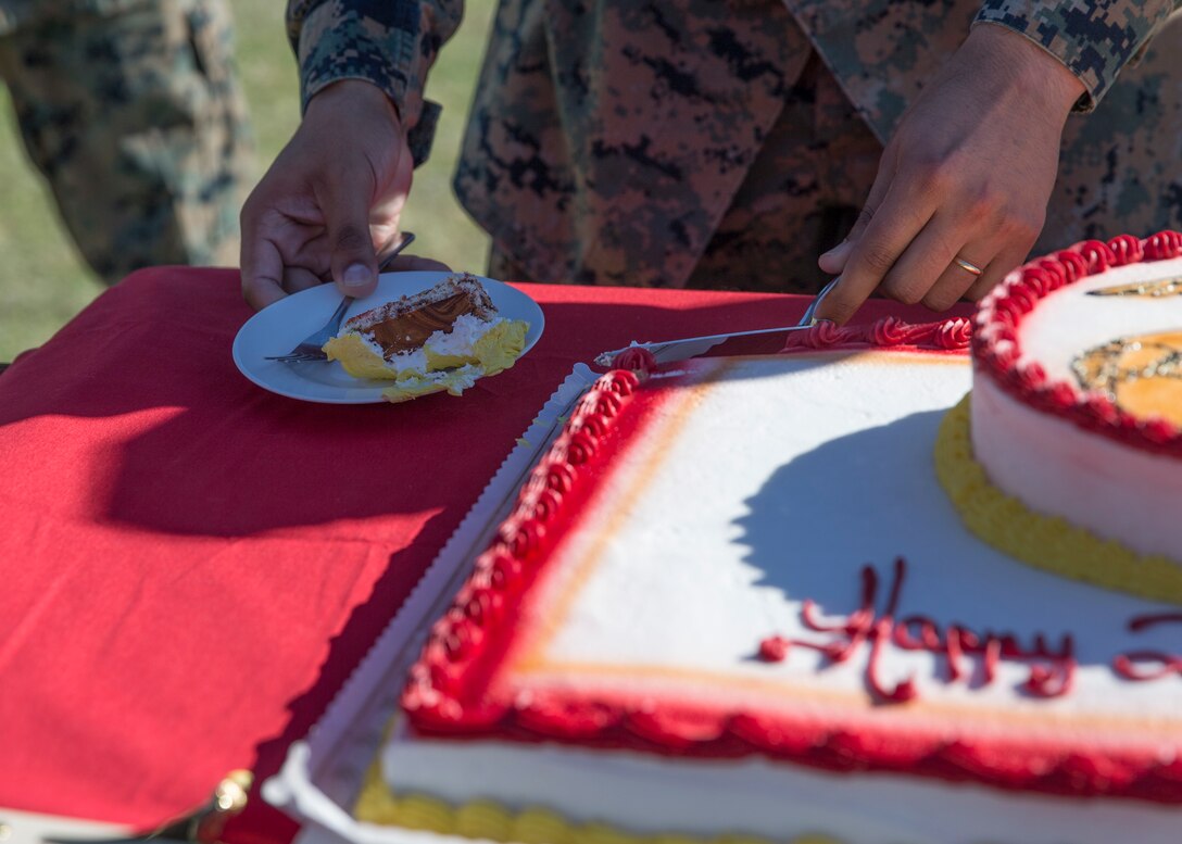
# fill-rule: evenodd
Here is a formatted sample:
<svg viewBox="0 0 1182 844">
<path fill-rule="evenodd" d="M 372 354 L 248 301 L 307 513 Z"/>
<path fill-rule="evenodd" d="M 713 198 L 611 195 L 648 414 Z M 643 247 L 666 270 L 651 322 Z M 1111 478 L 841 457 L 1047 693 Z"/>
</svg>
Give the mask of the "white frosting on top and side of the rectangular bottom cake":
<svg viewBox="0 0 1182 844">
<path fill-rule="evenodd" d="M 785 712 L 853 734 L 1076 736 L 1161 759 L 1182 747 L 1182 683 L 1130 683 L 1111 667 L 1134 649 L 1178 650 L 1176 626 L 1125 629 L 1132 616 L 1163 608 L 1035 571 L 961 528 L 931 448 L 943 414 L 969 389 L 967 358 L 820 353 L 684 369 L 727 365 L 725 378 L 663 404 L 613 461 L 518 615 L 525 645 L 495 677 L 500 694 L 579 689 L 658 710 L 690 702 Z M 950 682 L 936 655 L 891 645 L 881 676 L 888 686 L 913 676 L 920 696 L 884 705 L 868 692 L 866 644 L 836 664 L 806 648 L 779 663 L 754 658 L 773 635 L 832 641 L 803 624 L 803 602 L 816 602 L 824 618 L 845 617 L 859 605 L 866 564 L 881 577 L 881 612 L 897 556 L 908 561 L 898 618 L 1012 632 L 1027 645 L 1035 634 L 1052 644 L 1073 634 L 1073 692 L 1031 696 L 1021 688 L 1028 664 L 1008 660 L 987 684 L 980 661 L 966 657 L 972 680 Z M 830 774 L 758 754 L 723 762 L 402 735 L 384 752 L 383 772 L 397 792 L 544 805 L 641 832 L 1113 844 L 1135 829 L 1138 843 L 1164 844 L 1182 820 L 1177 809 L 1139 801 Z"/>
</svg>

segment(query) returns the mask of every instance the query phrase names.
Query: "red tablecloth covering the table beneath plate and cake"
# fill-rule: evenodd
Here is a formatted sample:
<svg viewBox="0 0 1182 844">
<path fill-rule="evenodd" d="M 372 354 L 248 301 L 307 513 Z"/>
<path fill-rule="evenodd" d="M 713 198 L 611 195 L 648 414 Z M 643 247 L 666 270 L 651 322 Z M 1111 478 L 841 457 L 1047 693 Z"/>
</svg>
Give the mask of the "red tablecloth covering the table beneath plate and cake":
<svg viewBox="0 0 1182 844">
<path fill-rule="evenodd" d="M 273 773 L 573 363 L 805 305 L 522 288 L 544 337 L 462 398 L 259 389 L 238 274 L 210 270 L 137 273 L 0 375 L 0 806 L 151 827 Z M 230 839 L 290 837 L 259 804 Z"/>
</svg>

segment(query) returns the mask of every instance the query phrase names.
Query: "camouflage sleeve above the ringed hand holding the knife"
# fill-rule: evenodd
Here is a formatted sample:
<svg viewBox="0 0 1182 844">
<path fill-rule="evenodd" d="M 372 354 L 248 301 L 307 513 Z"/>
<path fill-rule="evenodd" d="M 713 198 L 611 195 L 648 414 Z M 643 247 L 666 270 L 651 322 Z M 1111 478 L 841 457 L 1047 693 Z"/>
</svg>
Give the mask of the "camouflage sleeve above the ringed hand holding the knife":
<svg viewBox="0 0 1182 844">
<path fill-rule="evenodd" d="M 1139 58 L 1182 0 L 985 0 L 978 24 L 998 24 L 1026 35 L 1066 65 L 1087 89 L 1076 104 L 1091 111 L 1121 69 Z"/>
</svg>

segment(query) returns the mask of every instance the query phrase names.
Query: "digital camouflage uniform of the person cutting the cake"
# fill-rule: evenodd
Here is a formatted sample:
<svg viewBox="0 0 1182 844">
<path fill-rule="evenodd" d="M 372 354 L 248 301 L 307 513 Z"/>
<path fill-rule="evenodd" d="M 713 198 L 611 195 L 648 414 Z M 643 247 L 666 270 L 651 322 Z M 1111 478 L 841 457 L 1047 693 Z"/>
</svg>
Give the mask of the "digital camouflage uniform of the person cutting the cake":
<svg viewBox="0 0 1182 844">
<path fill-rule="evenodd" d="M 814 290 L 908 104 L 973 25 L 1000 25 L 1063 60 L 1095 110 L 1069 121 L 1035 249 L 1182 227 L 1177 5 L 502 0 L 455 187 L 502 278 Z M 305 91 L 359 76 L 402 103 L 387 80 L 421 84 L 460 4 L 291 7 L 317 20 L 291 18 Z"/>
</svg>

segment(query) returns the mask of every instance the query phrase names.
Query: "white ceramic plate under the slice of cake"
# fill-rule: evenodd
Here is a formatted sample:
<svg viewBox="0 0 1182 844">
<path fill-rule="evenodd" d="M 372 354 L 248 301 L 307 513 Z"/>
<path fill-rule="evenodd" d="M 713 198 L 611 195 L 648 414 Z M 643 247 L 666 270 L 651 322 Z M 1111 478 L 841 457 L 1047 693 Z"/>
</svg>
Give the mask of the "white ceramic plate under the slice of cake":
<svg viewBox="0 0 1182 844">
<path fill-rule="evenodd" d="M 345 319 L 384 305 L 401 296 L 427 290 L 452 273 L 383 273 L 377 291 L 349 306 Z M 530 324 L 525 335 L 525 355 L 541 337 L 545 319 L 538 303 L 521 291 L 500 281 L 476 277 L 506 319 L 524 319 Z M 336 361 L 316 363 L 280 363 L 267 361 L 271 355 L 286 355 L 296 344 L 324 325 L 340 304 L 337 286 L 324 284 L 301 291 L 262 309 L 239 329 L 234 338 L 234 363 L 247 378 L 265 390 L 288 398 L 325 404 L 369 404 L 384 401 L 382 390 L 392 382 L 355 378 Z"/>
</svg>

